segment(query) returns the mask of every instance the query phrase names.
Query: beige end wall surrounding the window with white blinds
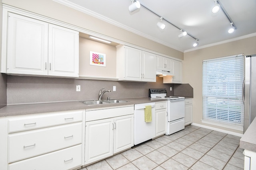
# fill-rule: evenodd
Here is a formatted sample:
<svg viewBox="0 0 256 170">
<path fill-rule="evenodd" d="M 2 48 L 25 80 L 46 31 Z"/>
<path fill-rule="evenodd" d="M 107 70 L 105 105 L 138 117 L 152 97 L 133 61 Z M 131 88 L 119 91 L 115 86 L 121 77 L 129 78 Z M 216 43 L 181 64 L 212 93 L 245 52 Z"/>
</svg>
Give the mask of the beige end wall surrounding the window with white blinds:
<svg viewBox="0 0 256 170">
<path fill-rule="evenodd" d="M 196 51 L 190 51 L 184 53 L 183 62 L 183 83 L 189 83 L 194 88 L 194 100 L 193 100 L 193 122 L 201 125 L 208 125 L 201 122 L 202 119 L 202 61 L 205 59 L 213 59 L 217 57 L 224 57 L 236 54 L 252 55 L 256 54 L 256 36 L 225 43 L 222 45 L 216 45 Z M 212 125 L 208 125 L 212 126 Z M 212 126 L 216 127 L 216 126 Z M 232 129 L 226 129 L 223 127 L 217 127 L 220 129 L 242 133 L 240 131 L 234 131 Z"/>
</svg>

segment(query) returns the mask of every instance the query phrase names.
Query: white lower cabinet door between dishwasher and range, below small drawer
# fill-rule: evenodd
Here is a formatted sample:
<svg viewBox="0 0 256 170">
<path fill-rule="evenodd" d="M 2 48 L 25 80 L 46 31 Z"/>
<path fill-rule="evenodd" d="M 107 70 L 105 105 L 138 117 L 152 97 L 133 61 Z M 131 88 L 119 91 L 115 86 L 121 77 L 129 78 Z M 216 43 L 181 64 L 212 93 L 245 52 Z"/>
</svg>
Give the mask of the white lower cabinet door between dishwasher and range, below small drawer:
<svg viewBox="0 0 256 170">
<path fill-rule="evenodd" d="M 166 109 L 156 110 L 156 137 L 166 133 L 167 125 Z"/>
</svg>

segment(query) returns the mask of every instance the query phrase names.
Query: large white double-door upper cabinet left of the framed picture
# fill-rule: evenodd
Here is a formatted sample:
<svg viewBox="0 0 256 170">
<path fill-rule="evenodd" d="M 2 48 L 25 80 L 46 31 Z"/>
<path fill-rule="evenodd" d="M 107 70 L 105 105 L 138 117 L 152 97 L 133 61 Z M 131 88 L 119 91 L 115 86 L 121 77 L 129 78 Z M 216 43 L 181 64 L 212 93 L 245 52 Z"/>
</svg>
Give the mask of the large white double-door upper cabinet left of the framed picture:
<svg viewBox="0 0 256 170">
<path fill-rule="evenodd" d="M 78 77 L 78 31 L 9 12 L 6 43 L 4 73 Z"/>
</svg>

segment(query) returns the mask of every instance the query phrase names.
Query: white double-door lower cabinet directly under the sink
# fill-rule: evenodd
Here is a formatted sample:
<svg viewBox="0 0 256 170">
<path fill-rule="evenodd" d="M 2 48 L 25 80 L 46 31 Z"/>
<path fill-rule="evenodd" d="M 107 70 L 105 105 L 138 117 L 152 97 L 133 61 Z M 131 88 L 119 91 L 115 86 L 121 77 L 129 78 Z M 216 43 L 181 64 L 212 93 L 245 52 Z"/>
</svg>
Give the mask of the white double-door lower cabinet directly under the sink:
<svg viewBox="0 0 256 170">
<path fill-rule="evenodd" d="M 85 130 L 85 164 L 90 164 L 134 146 L 134 107 L 99 110 L 106 112 L 102 116 L 112 117 L 86 122 Z M 123 111 L 122 111 L 123 109 Z M 118 112 L 117 112 L 118 111 Z M 122 112 L 119 112 L 122 111 Z M 97 110 L 86 114 L 97 114 Z M 113 115 L 123 115 L 113 117 Z M 132 113 L 132 114 L 131 114 Z M 90 118 L 89 118 L 90 119 Z"/>
</svg>

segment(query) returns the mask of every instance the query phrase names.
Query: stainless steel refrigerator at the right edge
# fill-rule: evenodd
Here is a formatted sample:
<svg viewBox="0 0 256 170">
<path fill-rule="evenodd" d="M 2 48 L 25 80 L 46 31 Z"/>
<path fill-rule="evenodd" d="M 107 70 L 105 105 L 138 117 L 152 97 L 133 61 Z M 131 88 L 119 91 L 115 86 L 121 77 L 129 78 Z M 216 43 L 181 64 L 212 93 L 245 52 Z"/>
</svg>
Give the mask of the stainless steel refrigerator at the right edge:
<svg viewBox="0 0 256 170">
<path fill-rule="evenodd" d="M 244 132 L 256 117 L 256 55 L 245 56 Z"/>
</svg>

